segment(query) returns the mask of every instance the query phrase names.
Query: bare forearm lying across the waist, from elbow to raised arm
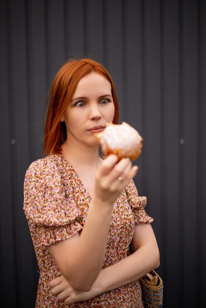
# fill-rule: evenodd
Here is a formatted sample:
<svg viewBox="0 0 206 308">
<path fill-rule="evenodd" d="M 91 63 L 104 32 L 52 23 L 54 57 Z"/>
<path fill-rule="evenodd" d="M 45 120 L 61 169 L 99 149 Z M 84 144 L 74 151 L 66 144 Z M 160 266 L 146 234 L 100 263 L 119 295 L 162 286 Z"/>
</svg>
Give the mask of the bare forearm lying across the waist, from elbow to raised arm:
<svg viewBox="0 0 206 308">
<path fill-rule="evenodd" d="M 141 246 L 132 255 L 100 272 L 95 285 L 103 293 L 136 281 L 159 266 L 159 249 Z"/>
</svg>

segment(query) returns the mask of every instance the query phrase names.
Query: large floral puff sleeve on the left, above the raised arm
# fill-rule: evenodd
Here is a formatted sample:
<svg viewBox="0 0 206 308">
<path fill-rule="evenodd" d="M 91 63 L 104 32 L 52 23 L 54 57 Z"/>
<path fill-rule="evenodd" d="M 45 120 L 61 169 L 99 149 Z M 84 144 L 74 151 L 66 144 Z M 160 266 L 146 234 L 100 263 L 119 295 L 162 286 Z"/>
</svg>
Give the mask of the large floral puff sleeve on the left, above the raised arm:
<svg viewBox="0 0 206 308">
<path fill-rule="evenodd" d="M 46 158 L 34 161 L 25 175 L 24 212 L 38 241 L 47 246 L 73 236 L 82 229 L 74 200 L 65 198 L 61 174 Z"/>
</svg>

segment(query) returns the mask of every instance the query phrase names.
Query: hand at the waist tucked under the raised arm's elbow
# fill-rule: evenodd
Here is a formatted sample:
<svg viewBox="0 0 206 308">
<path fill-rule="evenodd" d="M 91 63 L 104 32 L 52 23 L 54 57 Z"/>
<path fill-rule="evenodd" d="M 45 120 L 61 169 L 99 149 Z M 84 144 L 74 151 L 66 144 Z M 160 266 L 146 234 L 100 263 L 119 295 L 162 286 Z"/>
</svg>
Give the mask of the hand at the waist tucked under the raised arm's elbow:
<svg viewBox="0 0 206 308">
<path fill-rule="evenodd" d="M 49 282 L 49 287 L 53 295 L 57 296 L 65 304 L 73 304 L 79 301 L 87 301 L 99 295 L 97 285 L 94 283 L 88 292 L 76 291 L 62 275 Z"/>
</svg>

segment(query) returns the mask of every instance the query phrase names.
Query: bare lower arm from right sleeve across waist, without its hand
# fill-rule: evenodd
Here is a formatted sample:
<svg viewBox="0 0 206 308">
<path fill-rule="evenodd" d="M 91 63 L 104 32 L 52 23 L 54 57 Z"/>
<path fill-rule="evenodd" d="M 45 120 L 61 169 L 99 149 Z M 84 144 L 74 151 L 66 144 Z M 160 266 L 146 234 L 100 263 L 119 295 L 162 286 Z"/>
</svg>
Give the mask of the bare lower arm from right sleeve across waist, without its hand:
<svg viewBox="0 0 206 308">
<path fill-rule="evenodd" d="M 119 288 L 159 267 L 159 249 L 150 224 L 135 225 L 132 244 L 136 250 L 133 254 L 101 271 L 96 280 L 101 286 L 101 291 Z"/>
</svg>

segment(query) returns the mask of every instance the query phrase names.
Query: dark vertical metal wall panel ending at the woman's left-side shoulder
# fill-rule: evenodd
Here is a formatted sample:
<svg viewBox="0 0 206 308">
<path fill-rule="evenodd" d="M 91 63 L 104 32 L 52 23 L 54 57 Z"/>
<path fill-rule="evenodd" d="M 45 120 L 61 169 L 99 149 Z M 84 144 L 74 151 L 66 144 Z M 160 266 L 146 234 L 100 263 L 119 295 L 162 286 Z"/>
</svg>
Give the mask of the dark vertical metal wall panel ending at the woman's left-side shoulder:
<svg viewBox="0 0 206 308">
<path fill-rule="evenodd" d="M 44 1 L 29 1 L 28 19 L 28 50 L 29 50 L 29 108 L 28 118 L 30 141 L 29 164 L 39 158 L 43 148 L 43 112 L 47 98 L 48 55 L 46 46 L 45 6 Z"/>
</svg>

